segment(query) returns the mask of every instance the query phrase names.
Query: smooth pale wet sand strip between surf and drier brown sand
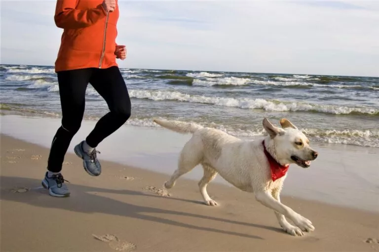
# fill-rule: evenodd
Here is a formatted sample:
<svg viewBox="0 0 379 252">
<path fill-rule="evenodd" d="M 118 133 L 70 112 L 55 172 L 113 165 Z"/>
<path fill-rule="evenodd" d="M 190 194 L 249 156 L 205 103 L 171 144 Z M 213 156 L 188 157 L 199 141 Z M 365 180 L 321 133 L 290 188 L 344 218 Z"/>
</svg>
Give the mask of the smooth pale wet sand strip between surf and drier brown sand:
<svg viewBox="0 0 379 252">
<path fill-rule="evenodd" d="M 1 116 L 1 133 L 49 148 L 60 119 Z M 91 130 L 95 122 L 83 121 L 68 153 Z M 43 129 L 43 130 L 42 130 Z M 141 137 L 142 136 L 142 137 Z M 144 168 L 171 175 L 178 154 L 190 135 L 162 128 L 122 126 L 99 146 L 100 160 Z M 357 146 L 322 146 L 313 143 L 320 157 L 311 168 L 291 166 L 282 195 L 352 209 L 379 212 L 379 149 Z M 337 157 L 337 158 L 336 158 Z M 365 161 L 362 167 L 361 160 Z M 196 167 L 183 178 L 198 181 L 202 169 Z M 217 176 L 212 183 L 233 188 Z"/>
</svg>

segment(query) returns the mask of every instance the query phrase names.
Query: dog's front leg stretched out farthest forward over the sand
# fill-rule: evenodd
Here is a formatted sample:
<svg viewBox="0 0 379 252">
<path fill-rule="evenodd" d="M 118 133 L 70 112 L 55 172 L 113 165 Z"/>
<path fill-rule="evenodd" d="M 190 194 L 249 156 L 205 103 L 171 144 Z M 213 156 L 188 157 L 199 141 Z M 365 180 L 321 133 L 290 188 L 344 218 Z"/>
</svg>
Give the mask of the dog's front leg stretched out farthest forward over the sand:
<svg viewBox="0 0 379 252">
<path fill-rule="evenodd" d="M 270 209 L 278 212 L 278 214 L 283 214 L 284 216 L 286 216 L 287 218 L 292 220 L 294 222 L 294 224 L 296 226 L 298 226 L 302 231 L 309 232 L 309 231 L 314 230 L 314 227 L 313 227 L 312 222 L 310 220 L 308 220 L 307 218 L 304 218 L 299 213 L 295 212 L 291 208 L 287 207 L 286 205 L 282 204 L 278 200 L 274 199 L 272 197 L 271 193 L 262 190 L 262 191 L 256 192 L 255 197 L 256 197 L 257 201 L 262 203 L 267 208 L 270 208 Z M 277 217 L 278 217 L 278 219 L 283 218 L 285 220 L 284 216 L 281 217 L 279 215 Z M 287 220 L 286 220 L 286 222 L 287 222 Z M 279 219 L 279 223 L 280 223 L 280 219 Z M 293 234 L 293 233 L 291 233 L 291 234 L 295 235 L 296 232 L 295 232 L 295 234 Z"/>
</svg>

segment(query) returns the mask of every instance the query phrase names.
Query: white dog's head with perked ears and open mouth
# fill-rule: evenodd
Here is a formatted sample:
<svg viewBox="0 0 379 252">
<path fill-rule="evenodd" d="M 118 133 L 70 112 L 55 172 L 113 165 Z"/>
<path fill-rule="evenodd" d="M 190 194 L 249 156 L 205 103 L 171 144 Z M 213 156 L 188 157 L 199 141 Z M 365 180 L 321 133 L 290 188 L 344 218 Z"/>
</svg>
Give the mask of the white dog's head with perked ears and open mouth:
<svg viewBox="0 0 379 252">
<path fill-rule="evenodd" d="M 273 126 L 266 118 L 263 126 L 270 136 L 268 145 L 280 164 L 297 164 L 308 168 L 318 153 L 309 146 L 309 139 L 287 119 L 281 119 L 282 128 Z"/>
</svg>

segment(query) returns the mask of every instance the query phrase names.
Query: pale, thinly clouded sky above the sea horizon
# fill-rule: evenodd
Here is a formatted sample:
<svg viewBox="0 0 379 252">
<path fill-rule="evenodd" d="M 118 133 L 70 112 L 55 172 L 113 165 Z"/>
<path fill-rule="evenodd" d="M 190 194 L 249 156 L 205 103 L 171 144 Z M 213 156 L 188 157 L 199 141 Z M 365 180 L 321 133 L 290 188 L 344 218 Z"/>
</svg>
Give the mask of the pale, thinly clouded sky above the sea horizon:
<svg viewBox="0 0 379 252">
<path fill-rule="evenodd" d="M 1 0 L 1 64 L 54 65 L 55 0 Z M 379 0 L 119 0 L 122 68 L 379 77 Z"/>
</svg>

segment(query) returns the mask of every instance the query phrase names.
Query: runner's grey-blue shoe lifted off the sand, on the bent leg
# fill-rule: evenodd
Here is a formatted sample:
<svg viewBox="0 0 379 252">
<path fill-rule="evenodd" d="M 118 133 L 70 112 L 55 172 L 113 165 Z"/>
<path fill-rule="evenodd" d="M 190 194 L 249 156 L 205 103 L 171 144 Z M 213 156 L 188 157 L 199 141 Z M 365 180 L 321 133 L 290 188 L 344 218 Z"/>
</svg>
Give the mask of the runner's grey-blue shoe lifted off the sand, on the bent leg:
<svg viewBox="0 0 379 252">
<path fill-rule="evenodd" d="M 100 154 L 100 152 L 96 149 L 94 149 L 91 153 L 85 152 L 83 150 L 83 143 L 84 141 L 81 141 L 78 145 L 76 145 L 74 152 L 76 156 L 83 160 L 83 167 L 88 174 L 91 176 L 99 176 L 101 174 L 101 165 L 96 154 Z"/>
</svg>

